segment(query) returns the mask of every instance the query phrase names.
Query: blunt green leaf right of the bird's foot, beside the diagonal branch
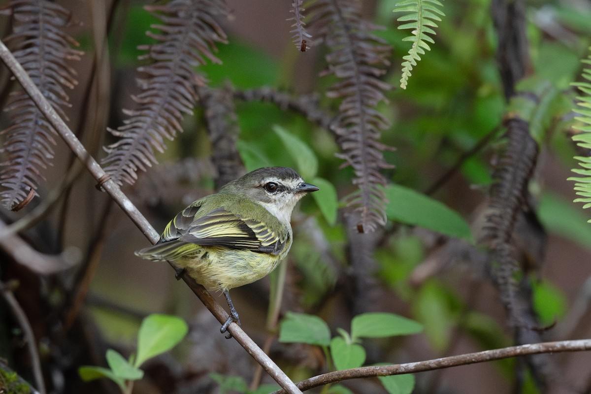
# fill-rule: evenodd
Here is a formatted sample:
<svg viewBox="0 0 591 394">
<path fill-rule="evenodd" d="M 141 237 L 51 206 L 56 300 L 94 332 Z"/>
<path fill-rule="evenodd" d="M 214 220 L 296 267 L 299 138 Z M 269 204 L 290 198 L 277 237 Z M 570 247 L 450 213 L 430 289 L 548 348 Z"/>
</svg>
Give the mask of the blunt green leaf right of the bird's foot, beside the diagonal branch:
<svg viewBox="0 0 591 394">
<path fill-rule="evenodd" d="M 311 345 L 329 346 L 329 326 L 317 316 L 287 312 L 280 324 L 279 341 L 284 343 L 301 342 Z"/>
</svg>

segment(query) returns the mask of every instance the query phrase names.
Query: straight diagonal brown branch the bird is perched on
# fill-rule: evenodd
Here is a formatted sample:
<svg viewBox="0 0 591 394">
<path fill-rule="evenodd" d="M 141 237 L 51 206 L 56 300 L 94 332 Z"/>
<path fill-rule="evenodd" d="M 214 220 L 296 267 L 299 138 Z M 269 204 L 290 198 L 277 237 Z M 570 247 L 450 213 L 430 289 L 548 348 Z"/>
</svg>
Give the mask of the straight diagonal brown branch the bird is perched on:
<svg viewBox="0 0 591 394">
<path fill-rule="evenodd" d="M 63 119 L 56 113 L 56 110 L 47 102 L 43 93 L 37 89 L 37 86 L 33 83 L 31 78 L 22 69 L 22 66 L 12 56 L 12 53 L 8 50 L 6 45 L 0 40 L 0 58 L 12 71 L 18 82 L 21 83 L 27 94 L 35 102 L 35 105 L 41 110 L 43 115 L 47 118 L 47 121 L 56 129 L 61 138 L 66 142 L 70 149 L 76 154 L 80 161 L 84 162 L 87 170 L 92 176 L 98 181 L 101 178 L 105 178 L 105 170 L 100 167 L 98 162 L 86 151 L 85 147 L 76 138 L 74 133 L 68 128 Z M 154 230 L 154 227 L 145 219 L 145 217 L 139 212 L 137 207 L 129 200 L 129 198 L 119 189 L 119 186 L 112 179 L 106 180 L 101 183 L 101 187 L 113 198 L 116 204 L 125 212 L 129 219 L 134 222 L 139 230 L 150 240 L 152 243 L 156 243 L 160 239 L 160 235 Z M 199 299 L 203 302 L 206 308 L 212 312 L 220 323 L 223 323 L 228 318 L 226 311 L 220 307 L 219 304 L 213 299 L 212 295 L 202 286 L 197 284 L 192 278 L 183 276 L 183 280 L 189 285 L 189 288 Z M 241 346 L 248 351 L 248 353 L 261 364 L 265 370 L 277 381 L 277 383 L 287 390 L 289 393 L 300 393 L 300 390 L 294 385 L 293 382 L 285 375 L 285 373 L 265 354 L 254 341 L 246 335 L 244 331 L 238 326 L 238 324 L 230 324 L 228 331 L 238 341 Z"/>
</svg>

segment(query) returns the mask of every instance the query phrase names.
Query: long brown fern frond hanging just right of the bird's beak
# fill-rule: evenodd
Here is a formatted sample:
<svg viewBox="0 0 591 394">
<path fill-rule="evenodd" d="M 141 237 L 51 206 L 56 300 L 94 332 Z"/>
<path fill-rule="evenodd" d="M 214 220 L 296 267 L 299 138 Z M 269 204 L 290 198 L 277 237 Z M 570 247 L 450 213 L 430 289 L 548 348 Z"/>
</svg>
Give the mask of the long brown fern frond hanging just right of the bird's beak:
<svg viewBox="0 0 591 394">
<path fill-rule="evenodd" d="M 359 190 L 348 202 L 361 213 L 357 227 L 362 232 L 385 224 L 386 180 L 380 170 L 391 166 L 382 154 L 387 147 L 378 139 L 389 122 L 376 106 L 391 86 L 379 79 L 385 72 L 380 67 L 389 65 L 390 47 L 372 34 L 377 27 L 361 17 L 359 6 L 355 0 L 318 0 L 310 7 L 310 25 L 330 49 L 326 74 L 339 79 L 326 94 L 341 100 L 335 129 L 343 151 L 339 157 L 355 171 L 353 184 Z"/>
</svg>

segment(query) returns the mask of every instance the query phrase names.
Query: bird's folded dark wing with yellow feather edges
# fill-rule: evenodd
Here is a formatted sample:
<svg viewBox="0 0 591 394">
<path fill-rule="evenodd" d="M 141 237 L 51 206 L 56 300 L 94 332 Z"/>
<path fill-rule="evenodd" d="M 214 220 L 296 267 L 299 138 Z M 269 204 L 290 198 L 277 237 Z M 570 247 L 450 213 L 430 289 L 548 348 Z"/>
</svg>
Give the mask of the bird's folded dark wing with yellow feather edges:
<svg viewBox="0 0 591 394">
<path fill-rule="evenodd" d="M 186 224 L 186 221 L 180 218 L 179 223 Z M 174 226 L 176 227 L 176 224 Z M 286 235 L 282 239 L 276 232 L 269 229 L 267 224 L 239 217 L 223 207 L 197 217 L 186 230 L 181 231 L 183 234 L 178 239 L 183 242 L 201 246 L 252 250 L 252 252 L 273 255 L 281 253 L 289 236 Z"/>
</svg>

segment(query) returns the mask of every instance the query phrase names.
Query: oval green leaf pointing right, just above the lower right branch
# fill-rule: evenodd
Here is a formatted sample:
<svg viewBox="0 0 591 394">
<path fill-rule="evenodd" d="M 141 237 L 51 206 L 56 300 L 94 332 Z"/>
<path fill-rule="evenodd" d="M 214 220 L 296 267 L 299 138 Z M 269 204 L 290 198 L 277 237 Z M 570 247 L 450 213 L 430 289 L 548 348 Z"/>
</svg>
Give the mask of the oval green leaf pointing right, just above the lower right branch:
<svg viewBox="0 0 591 394">
<path fill-rule="evenodd" d="M 416 334 L 423 325 L 414 320 L 387 312 L 370 312 L 356 315 L 351 321 L 351 337 L 385 338 L 397 335 Z"/>
</svg>

